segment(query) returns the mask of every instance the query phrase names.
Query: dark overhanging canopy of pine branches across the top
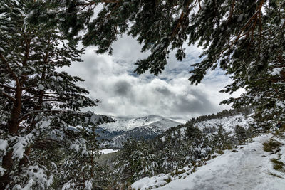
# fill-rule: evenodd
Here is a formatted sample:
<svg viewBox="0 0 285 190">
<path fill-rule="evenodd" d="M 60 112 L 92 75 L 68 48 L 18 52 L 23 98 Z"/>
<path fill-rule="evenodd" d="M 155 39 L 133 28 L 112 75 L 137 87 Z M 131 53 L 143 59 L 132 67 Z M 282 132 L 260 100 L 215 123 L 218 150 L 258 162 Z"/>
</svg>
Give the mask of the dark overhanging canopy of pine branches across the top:
<svg viewBox="0 0 285 190">
<path fill-rule="evenodd" d="M 68 38 L 98 46 L 97 53 L 111 54 L 112 43 L 123 33 L 133 36 L 142 44 L 141 51 L 150 51 L 135 63 L 138 74 L 149 70 L 158 75 L 171 51 L 183 60 L 185 46 L 202 46 L 201 62 L 190 63 L 192 84 L 200 83 L 209 70 L 221 68 L 232 78 L 222 92 L 248 92 L 243 100 L 223 103 L 260 105 L 266 96 L 272 109 L 284 113 L 284 95 L 276 92 L 284 92 L 285 82 L 284 8 L 280 0 L 53 0 L 34 1 L 28 18 L 59 23 Z"/>
</svg>

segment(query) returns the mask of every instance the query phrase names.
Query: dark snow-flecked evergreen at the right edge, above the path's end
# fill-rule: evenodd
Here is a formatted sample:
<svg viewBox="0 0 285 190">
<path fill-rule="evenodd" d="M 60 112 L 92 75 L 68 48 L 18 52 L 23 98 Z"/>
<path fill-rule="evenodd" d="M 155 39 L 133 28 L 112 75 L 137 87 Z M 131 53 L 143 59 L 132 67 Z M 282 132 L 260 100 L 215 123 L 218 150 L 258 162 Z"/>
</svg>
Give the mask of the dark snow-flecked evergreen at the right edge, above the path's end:
<svg viewBox="0 0 285 190">
<path fill-rule="evenodd" d="M 262 1 L 261 1 L 262 3 Z M 252 105 L 257 107 L 256 118 L 266 125 L 276 125 L 285 118 L 285 2 L 269 1 L 264 6 L 264 13 L 258 18 L 259 32 L 251 32 L 251 38 L 244 38 L 248 48 L 244 53 L 247 60 L 235 58 L 237 63 L 248 63 L 244 71 L 234 73 L 234 83 L 223 92 L 234 92 L 245 87 L 247 93 L 239 98 L 230 98 L 223 103 L 234 103 L 234 107 Z M 256 39 L 256 41 L 254 41 Z M 274 53 L 272 53 L 274 52 Z M 241 50 L 242 53 L 242 50 Z M 252 58 L 249 58 L 252 56 Z M 245 74 L 244 72 L 247 72 Z"/>
</svg>

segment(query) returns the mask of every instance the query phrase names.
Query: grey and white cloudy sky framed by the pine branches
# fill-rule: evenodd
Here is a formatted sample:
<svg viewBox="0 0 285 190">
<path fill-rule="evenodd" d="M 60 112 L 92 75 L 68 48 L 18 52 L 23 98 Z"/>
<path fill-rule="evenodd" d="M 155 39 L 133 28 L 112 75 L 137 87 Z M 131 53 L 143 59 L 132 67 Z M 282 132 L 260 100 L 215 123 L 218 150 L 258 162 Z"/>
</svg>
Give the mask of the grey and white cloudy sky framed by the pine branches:
<svg viewBox="0 0 285 190">
<path fill-rule="evenodd" d="M 221 70 L 211 71 L 199 85 L 190 85 L 190 65 L 199 61 L 200 48 L 187 47 L 187 58 L 182 62 L 170 55 L 167 67 L 159 76 L 133 73 L 133 63 L 148 53 L 141 53 L 140 45 L 129 36 L 113 44 L 112 56 L 97 55 L 94 50 L 95 47 L 89 47 L 82 63 L 65 68 L 71 75 L 85 79 L 80 85 L 90 90 L 91 98 L 102 101 L 98 107 L 88 107 L 88 110 L 123 117 L 161 115 L 189 120 L 229 108 L 219 105 L 229 97 L 219 90 L 230 82 Z"/>
</svg>

